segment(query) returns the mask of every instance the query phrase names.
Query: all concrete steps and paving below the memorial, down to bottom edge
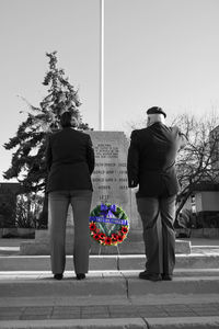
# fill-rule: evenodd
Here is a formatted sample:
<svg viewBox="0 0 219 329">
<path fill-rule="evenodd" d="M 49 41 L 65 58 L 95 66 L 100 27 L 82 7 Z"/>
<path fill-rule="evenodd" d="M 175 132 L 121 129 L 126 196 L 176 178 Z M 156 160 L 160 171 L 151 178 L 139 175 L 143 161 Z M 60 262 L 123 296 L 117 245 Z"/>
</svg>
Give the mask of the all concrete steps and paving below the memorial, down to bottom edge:
<svg viewBox="0 0 219 329">
<path fill-rule="evenodd" d="M 83 281 L 69 258 L 64 280 L 55 281 L 48 258 L 21 257 L 19 243 L 0 239 L 2 329 L 219 328 L 219 240 L 192 239 L 192 254 L 177 259 L 193 261 L 178 261 L 171 282 L 139 280 L 142 254 L 92 257 Z"/>
</svg>

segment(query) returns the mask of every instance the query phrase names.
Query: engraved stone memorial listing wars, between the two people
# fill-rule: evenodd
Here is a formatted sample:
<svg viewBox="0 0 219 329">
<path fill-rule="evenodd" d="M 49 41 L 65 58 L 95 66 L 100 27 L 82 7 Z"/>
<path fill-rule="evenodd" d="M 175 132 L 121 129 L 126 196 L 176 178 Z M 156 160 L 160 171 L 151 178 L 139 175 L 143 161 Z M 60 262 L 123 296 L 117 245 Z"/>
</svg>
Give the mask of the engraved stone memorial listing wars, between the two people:
<svg viewBox="0 0 219 329">
<path fill-rule="evenodd" d="M 130 227 L 139 226 L 134 206 L 134 196 L 128 189 L 128 140 L 123 132 L 89 132 L 95 152 L 95 169 L 92 174 L 93 209 L 97 204 L 111 203 L 124 209 Z"/>
</svg>

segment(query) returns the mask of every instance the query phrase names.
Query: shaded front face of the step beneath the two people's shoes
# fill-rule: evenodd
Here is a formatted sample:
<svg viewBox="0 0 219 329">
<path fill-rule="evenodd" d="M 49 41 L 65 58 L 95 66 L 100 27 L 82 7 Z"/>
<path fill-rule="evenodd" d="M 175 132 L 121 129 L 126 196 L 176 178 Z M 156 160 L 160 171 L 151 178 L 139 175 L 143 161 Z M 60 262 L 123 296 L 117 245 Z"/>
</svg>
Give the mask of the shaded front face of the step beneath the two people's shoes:
<svg viewBox="0 0 219 329">
<path fill-rule="evenodd" d="M 84 281 L 66 277 L 56 281 L 51 276 L 0 280 L 1 297 L 91 297 L 119 296 L 135 298 L 150 295 L 189 295 L 189 294 L 219 294 L 219 276 L 181 276 L 173 281 L 151 282 L 139 280 L 137 276 L 118 273 L 101 277 L 90 276 Z"/>
</svg>

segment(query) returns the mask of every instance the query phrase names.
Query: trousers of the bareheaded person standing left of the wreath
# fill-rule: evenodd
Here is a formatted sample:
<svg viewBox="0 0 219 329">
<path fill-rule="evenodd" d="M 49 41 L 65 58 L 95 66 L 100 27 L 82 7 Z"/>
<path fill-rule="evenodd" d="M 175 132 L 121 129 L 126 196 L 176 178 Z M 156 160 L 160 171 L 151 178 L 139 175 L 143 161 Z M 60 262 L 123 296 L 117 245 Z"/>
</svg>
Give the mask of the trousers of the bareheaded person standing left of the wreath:
<svg viewBox="0 0 219 329">
<path fill-rule="evenodd" d="M 89 217 L 92 191 L 55 191 L 48 195 L 48 209 L 51 216 L 50 225 L 50 261 L 51 272 L 64 273 L 66 265 L 66 222 L 69 204 L 73 211 L 74 241 L 73 264 L 74 272 L 88 273 L 90 230 Z"/>
</svg>

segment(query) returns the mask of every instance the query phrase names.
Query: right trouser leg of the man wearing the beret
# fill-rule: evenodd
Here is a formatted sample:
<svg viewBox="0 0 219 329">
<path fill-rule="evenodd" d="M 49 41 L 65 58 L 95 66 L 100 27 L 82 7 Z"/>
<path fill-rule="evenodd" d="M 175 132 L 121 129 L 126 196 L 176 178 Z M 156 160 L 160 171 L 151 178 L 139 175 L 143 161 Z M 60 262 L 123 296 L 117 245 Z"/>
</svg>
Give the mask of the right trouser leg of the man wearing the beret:
<svg viewBox="0 0 219 329">
<path fill-rule="evenodd" d="M 172 275 L 175 265 L 175 195 L 160 200 L 163 236 L 163 273 Z"/>
</svg>

